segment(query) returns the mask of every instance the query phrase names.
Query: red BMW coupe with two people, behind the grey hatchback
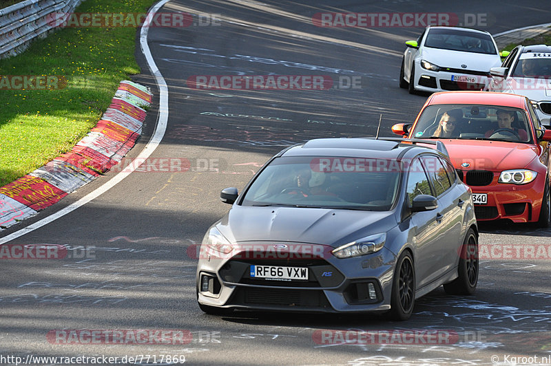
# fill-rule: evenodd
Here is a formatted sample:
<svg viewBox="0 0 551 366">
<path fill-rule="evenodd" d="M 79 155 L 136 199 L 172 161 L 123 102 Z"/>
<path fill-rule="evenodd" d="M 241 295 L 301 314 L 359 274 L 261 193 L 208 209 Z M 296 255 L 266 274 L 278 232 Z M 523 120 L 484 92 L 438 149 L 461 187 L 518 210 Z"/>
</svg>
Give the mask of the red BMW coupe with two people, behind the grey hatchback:
<svg viewBox="0 0 551 366">
<path fill-rule="evenodd" d="M 457 175 L 472 190 L 477 220 L 551 225 L 550 141 L 530 100 L 493 92 L 431 95 L 413 125 L 393 132 L 444 142 Z"/>
</svg>

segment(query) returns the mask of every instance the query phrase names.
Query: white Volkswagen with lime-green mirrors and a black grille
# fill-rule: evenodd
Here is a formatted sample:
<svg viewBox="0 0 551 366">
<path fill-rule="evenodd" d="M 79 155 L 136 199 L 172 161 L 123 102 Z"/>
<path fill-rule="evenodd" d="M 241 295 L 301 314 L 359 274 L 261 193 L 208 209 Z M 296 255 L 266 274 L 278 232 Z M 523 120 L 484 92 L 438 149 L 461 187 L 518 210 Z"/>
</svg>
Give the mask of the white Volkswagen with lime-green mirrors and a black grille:
<svg viewBox="0 0 551 366">
<path fill-rule="evenodd" d="M 501 65 L 495 40 L 480 30 L 428 27 L 406 45 L 399 85 L 410 94 L 485 89 L 490 68 Z"/>
</svg>

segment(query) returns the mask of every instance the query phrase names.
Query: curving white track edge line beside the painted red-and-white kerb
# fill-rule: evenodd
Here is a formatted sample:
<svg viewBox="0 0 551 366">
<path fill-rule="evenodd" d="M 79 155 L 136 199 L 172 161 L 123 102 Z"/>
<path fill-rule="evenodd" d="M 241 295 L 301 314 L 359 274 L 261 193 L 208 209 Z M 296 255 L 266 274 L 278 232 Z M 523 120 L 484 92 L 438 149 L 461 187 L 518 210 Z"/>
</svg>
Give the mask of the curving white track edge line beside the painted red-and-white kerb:
<svg viewBox="0 0 551 366">
<path fill-rule="evenodd" d="M 165 131 L 167 130 L 167 121 L 168 121 L 168 88 L 167 83 L 163 76 L 160 74 L 160 71 L 155 64 L 155 61 L 153 60 L 153 56 L 151 54 L 151 51 L 149 50 L 149 45 L 147 45 L 147 32 L 149 30 L 149 23 L 153 19 L 154 13 L 159 10 L 160 7 L 164 6 L 165 3 L 167 3 L 170 0 L 161 0 L 158 3 L 153 6 L 152 10 L 147 13 L 147 17 L 145 18 L 145 22 L 140 30 L 140 45 L 142 53 L 145 56 L 145 59 L 147 61 L 147 65 L 149 66 L 149 70 L 152 72 L 153 76 L 155 77 L 155 81 L 159 88 L 159 111 L 158 111 L 158 117 L 157 117 L 157 123 L 155 127 L 155 131 L 153 133 L 153 136 L 151 140 L 147 143 L 145 148 L 141 151 L 141 153 L 132 161 L 132 164 L 129 164 L 123 171 L 115 175 L 114 177 L 109 180 L 109 182 L 106 182 L 102 186 L 98 187 L 94 191 L 88 193 L 84 197 L 82 197 L 80 200 L 73 202 L 69 206 L 61 209 L 60 211 L 57 211 L 56 213 L 53 213 L 50 216 L 44 217 L 43 219 L 35 222 L 34 224 L 31 224 L 25 228 L 22 228 L 20 230 L 17 230 L 14 233 L 11 233 L 10 235 L 6 235 L 6 237 L 0 238 L 0 245 L 5 244 L 8 241 L 11 241 L 13 239 L 17 239 L 18 237 L 21 237 L 27 233 L 30 233 L 33 230 L 37 230 L 37 228 L 41 228 L 42 226 L 46 224 L 50 224 L 50 222 L 53 222 L 56 219 L 59 219 L 59 217 L 63 217 L 64 215 L 67 215 L 67 213 L 70 213 L 76 208 L 79 208 L 88 202 L 94 200 L 94 198 L 99 197 L 103 193 L 109 191 L 114 187 L 118 182 L 121 182 L 121 180 L 125 179 L 130 173 L 132 173 L 138 166 L 143 164 L 147 158 L 149 158 L 149 155 L 151 155 L 155 149 L 157 149 L 158 145 L 160 144 L 160 141 L 163 140 L 163 137 L 165 136 Z M 138 164 L 134 164 L 134 162 L 137 162 Z"/>
</svg>

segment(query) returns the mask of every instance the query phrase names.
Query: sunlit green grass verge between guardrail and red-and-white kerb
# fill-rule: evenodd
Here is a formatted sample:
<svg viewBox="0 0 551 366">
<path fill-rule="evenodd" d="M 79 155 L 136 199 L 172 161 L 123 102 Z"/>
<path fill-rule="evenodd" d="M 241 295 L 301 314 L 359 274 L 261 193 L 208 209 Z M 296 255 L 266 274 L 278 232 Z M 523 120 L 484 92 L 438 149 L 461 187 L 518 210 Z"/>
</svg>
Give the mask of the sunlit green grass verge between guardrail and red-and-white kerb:
<svg viewBox="0 0 551 366">
<path fill-rule="evenodd" d="M 154 0 L 87 0 L 75 12 L 145 12 Z M 62 89 L 0 90 L 0 186 L 70 151 L 138 74 L 136 28 L 64 28 L 0 60 L 0 75 L 64 76 Z M 0 84 L 1 85 L 1 84 Z"/>
</svg>

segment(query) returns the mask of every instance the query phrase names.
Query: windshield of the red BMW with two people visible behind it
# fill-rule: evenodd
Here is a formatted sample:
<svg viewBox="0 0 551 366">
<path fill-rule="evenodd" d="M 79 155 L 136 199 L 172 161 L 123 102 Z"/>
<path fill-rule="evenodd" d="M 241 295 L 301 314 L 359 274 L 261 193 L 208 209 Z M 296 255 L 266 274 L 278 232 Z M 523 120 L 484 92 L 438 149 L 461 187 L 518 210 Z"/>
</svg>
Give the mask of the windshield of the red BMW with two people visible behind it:
<svg viewBox="0 0 551 366">
<path fill-rule="evenodd" d="M 419 116 L 412 137 L 532 142 L 523 109 L 494 105 L 431 105 Z"/>
</svg>

